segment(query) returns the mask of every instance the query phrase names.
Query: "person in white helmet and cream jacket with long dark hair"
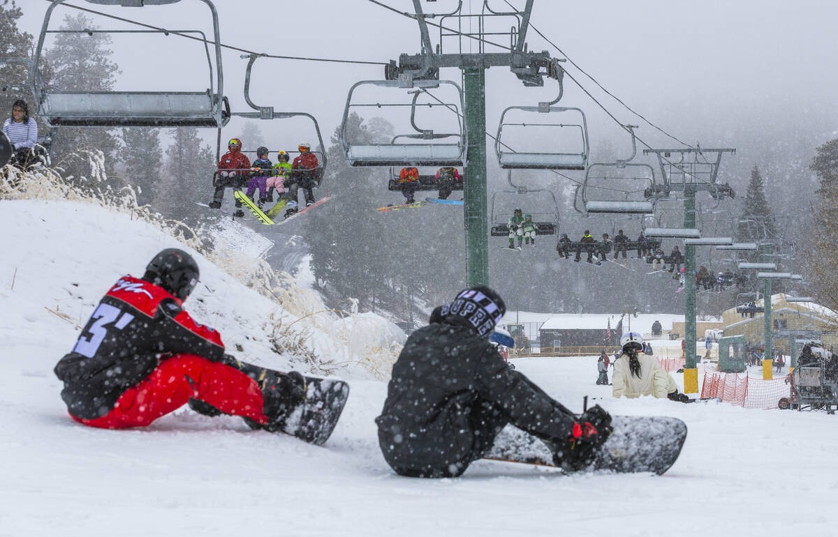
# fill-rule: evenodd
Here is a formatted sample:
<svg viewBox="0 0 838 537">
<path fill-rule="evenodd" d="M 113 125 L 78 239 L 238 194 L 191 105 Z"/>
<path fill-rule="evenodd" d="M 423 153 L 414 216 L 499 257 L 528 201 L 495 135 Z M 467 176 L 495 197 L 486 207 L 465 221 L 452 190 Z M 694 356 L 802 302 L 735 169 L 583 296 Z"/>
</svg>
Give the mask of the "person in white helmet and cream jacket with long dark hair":
<svg viewBox="0 0 838 537">
<path fill-rule="evenodd" d="M 637 332 L 627 332 L 620 338 L 622 354 L 614 362 L 611 390 L 615 397 L 655 396 L 672 401 L 688 402 L 690 398 L 678 393 L 675 379 L 660 366 L 657 358 L 643 351 L 646 346 Z"/>
</svg>

